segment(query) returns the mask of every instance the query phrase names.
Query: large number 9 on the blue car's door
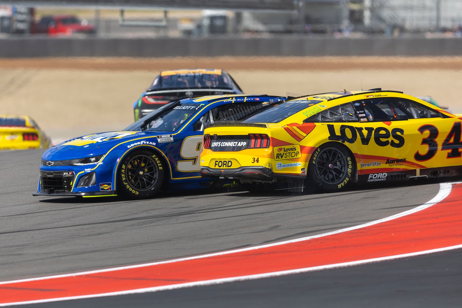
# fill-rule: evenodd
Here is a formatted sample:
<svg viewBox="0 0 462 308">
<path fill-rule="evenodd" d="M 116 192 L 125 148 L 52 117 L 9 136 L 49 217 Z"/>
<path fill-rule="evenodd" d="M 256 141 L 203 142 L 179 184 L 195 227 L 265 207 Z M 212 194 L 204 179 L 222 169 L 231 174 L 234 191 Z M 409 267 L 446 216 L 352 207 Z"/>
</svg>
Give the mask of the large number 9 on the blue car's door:
<svg viewBox="0 0 462 308">
<path fill-rule="evenodd" d="M 182 172 L 190 171 L 200 171 L 201 164 L 197 163 L 199 160 L 199 155 L 202 152 L 202 141 L 204 140 L 203 136 L 193 136 L 187 137 L 183 140 L 181 145 L 180 155 L 183 158 L 188 160 L 178 161 L 176 164 L 176 169 Z"/>
</svg>

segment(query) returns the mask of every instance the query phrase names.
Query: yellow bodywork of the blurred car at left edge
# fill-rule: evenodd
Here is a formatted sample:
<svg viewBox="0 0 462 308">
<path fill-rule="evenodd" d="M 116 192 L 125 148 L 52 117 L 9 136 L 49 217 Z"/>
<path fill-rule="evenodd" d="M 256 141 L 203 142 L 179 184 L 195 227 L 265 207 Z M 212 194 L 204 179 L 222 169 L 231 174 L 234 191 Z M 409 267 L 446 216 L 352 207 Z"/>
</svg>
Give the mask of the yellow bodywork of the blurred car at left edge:
<svg viewBox="0 0 462 308">
<path fill-rule="evenodd" d="M 27 115 L 0 115 L 0 118 L 16 118 L 25 121 L 25 126 L 0 126 L 0 150 L 45 149 L 51 140 Z M 24 140 L 23 134 L 37 134 L 35 141 Z"/>
</svg>

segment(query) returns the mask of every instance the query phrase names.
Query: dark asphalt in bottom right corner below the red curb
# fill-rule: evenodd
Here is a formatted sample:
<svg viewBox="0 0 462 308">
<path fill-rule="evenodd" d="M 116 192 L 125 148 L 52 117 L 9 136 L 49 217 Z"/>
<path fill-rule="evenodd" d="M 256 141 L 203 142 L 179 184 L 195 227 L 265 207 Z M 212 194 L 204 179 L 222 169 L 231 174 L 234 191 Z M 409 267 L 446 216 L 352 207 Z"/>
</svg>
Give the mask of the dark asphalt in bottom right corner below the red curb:
<svg viewBox="0 0 462 308">
<path fill-rule="evenodd" d="M 462 250 L 227 284 L 24 308 L 459 308 Z"/>
</svg>

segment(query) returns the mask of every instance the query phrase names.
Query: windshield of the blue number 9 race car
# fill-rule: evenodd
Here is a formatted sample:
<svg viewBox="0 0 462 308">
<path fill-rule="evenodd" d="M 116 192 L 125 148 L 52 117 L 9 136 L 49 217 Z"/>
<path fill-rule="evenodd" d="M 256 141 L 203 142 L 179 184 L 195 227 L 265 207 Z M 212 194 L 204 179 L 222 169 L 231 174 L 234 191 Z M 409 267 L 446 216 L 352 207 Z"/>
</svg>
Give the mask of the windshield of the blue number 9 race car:
<svg viewBox="0 0 462 308">
<path fill-rule="evenodd" d="M 169 105 L 164 107 L 168 107 Z M 203 105 L 197 103 L 178 103 L 173 108 L 164 108 L 164 111 L 158 109 L 134 122 L 124 130 L 174 132 L 181 127 L 186 120 L 194 116 L 202 106 Z"/>
</svg>

